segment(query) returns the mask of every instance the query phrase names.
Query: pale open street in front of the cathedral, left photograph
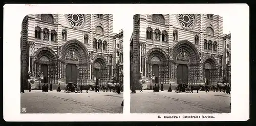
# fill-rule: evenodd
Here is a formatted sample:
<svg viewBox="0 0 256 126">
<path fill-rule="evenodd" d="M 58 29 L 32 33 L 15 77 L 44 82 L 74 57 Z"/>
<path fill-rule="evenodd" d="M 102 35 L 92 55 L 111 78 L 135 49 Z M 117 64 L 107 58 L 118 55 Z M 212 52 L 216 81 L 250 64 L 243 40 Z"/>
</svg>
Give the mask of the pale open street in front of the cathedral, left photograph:
<svg viewBox="0 0 256 126">
<path fill-rule="evenodd" d="M 65 93 L 32 90 L 20 94 L 20 113 L 122 113 L 123 93 L 83 91 L 83 93 Z"/>
</svg>

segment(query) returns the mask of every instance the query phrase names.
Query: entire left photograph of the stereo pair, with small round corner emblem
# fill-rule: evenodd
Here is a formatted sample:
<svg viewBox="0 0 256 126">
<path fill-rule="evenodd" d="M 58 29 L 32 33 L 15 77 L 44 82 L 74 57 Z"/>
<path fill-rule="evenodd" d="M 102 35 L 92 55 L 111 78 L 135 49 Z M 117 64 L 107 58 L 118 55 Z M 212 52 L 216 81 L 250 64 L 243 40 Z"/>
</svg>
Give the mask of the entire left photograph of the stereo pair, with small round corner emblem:
<svg viewBox="0 0 256 126">
<path fill-rule="evenodd" d="M 20 32 L 20 113 L 122 113 L 123 28 L 115 25 L 120 24 L 117 18 L 25 16 Z"/>
</svg>

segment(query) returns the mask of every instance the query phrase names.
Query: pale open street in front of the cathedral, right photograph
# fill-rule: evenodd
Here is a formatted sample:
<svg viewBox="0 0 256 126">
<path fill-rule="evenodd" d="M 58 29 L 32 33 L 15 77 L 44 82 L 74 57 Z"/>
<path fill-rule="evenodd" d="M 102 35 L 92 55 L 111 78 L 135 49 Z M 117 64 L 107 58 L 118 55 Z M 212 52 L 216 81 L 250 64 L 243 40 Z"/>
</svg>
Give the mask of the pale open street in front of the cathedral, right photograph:
<svg viewBox="0 0 256 126">
<path fill-rule="evenodd" d="M 199 91 L 176 93 L 139 90 L 131 94 L 131 113 L 230 113 L 231 95 Z"/>
</svg>

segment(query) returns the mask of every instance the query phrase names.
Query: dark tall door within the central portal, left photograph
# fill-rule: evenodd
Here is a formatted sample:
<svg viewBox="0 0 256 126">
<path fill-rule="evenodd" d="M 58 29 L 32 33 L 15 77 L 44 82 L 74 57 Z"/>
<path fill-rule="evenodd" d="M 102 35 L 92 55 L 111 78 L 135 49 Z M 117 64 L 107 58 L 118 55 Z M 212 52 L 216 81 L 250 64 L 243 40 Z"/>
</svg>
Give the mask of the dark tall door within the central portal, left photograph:
<svg viewBox="0 0 256 126">
<path fill-rule="evenodd" d="M 68 64 L 66 66 L 66 82 L 77 83 L 77 66 L 75 64 Z"/>
</svg>

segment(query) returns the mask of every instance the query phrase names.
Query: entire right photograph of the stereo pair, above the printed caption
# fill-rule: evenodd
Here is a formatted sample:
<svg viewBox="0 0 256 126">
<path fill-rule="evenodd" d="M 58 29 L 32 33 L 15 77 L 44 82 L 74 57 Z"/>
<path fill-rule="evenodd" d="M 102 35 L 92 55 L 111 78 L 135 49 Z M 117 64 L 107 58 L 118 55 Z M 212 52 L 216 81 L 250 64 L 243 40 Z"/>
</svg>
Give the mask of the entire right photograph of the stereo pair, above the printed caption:
<svg viewBox="0 0 256 126">
<path fill-rule="evenodd" d="M 224 19 L 216 14 L 134 15 L 131 113 L 231 112 L 231 34 L 224 33 Z"/>
</svg>

